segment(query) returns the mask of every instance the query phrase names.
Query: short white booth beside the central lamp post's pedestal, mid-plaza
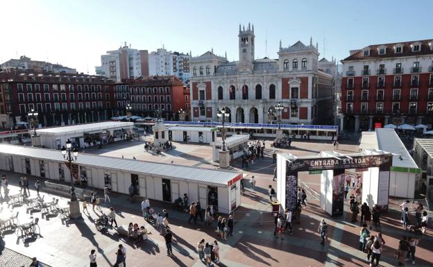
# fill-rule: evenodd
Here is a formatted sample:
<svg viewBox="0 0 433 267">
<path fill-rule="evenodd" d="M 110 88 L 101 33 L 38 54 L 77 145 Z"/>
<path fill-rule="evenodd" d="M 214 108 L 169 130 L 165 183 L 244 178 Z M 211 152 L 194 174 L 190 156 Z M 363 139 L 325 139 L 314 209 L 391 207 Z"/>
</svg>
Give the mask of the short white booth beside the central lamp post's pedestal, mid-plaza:
<svg viewBox="0 0 433 267">
<path fill-rule="evenodd" d="M 232 135 L 226 138 L 226 150 L 230 153 L 230 161 L 244 155 L 244 149 L 248 147 L 249 135 Z M 223 140 L 218 139 L 212 144 L 212 160 L 219 162 L 219 151 L 223 147 Z"/>
</svg>

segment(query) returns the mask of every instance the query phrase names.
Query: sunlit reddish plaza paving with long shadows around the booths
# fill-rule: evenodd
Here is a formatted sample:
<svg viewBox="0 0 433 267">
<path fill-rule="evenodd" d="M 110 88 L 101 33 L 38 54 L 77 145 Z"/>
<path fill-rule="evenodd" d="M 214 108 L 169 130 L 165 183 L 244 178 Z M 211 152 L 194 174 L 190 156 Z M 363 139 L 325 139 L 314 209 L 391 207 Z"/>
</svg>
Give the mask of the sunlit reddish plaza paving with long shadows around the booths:
<svg viewBox="0 0 433 267">
<path fill-rule="evenodd" d="M 185 164 L 200 166 L 203 168 L 216 168 L 217 164 L 212 163 L 210 146 L 199 146 L 190 144 L 175 144 L 175 150 L 169 150 L 164 155 L 152 155 L 145 153 L 142 141 L 130 141 L 121 144 L 105 146 L 101 149 L 87 150 L 86 153 L 97 153 L 112 157 L 126 158 L 136 157 L 137 160 L 153 162 L 165 162 L 174 164 Z M 330 143 L 314 143 L 304 141 L 294 141 L 294 148 L 284 150 L 294 155 L 312 155 L 320 153 L 321 150 L 332 150 Z M 350 153 L 357 151 L 354 144 L 340 144 L 339 152 Z M 283 152 L 283 150 L 278 150 Z M 186 155 L 185 153 L 188 153 Z M 273 215 L 269 205 L 269 198 L 266 196 L 266 188 L 272 181 L 273 167 L 271 160 L 272 148 L 266 142 L 265 158 L 257 160 L 248 169 L 240 170 L 239 161 L 235 161 L 234 169 L 257 178 L 256 190 L 246 191 L 241 197 L 241 207 L 233 214 L 235 217 L 235 232 L 228 241 L 219 241 L 221 247 L 221 263 L 216 266 L 367 266 L 366 255 L 357 250 L 359 240 L 359 225 L 349 223 L 350 214 L 346 213 L 339 218 L 331 218 L 319 207 L 316 193 L 319 191 L 319 175 L 300 176 L 301 184 L 307 188 L 308 204 L 303 210 L 300 224 L 294 223 L 294 234 L 286 235 L 285 239 L 275 239 L 273 237 Z M 10 194 L 17 193 L 19 190 L 15 173 L 6 173 L 10 180 Z M 33 179 L 33 178 L 32 178 Z M 33 181 L 31 182 L 33 185 Z M 246 182 L 248 187 L 248 182 Z M 32 187 L 32 186 L 31 186 Z M 35 192 L 31 191 L 32 196 Z M 51 199 L 52 194 L 45 194 L 45 199 Z M 101 192 L 99 192 L 101 195 Z M 382 233 L 387 241 L 382 255 L 381 266 L 396 266 L 397 260 L 394 259 L 393 252 L 398 246 L 398 240 L 402 234 L 400 212 L 398 204 L 401 200 L 391 200 L 390 212 L 383 214 Z M 152 234 L 149 235 L 150 241 L 140 247 L 133 245 L 124 236 L 119 236 L 115 229 L 110 229 L 107 234 L 96 232 L 94 219 L 100 212 L 83 214 L 83 219 L 77 221 L 62 221 L 56 217 L 42 217 L 40 212 L 31 214 L 26 210 L 26 206 L 13 207 L 14 212 L 19 212 L 20 223 L 31 221 L 31 218 L 41 218 L 41 235 L 37 239 L 32 239 L 28 243 L 17 240 L 13 233 L 6 233 L 3 242 L 6 248 L 26 255 L 28 257 L 38 257 L 42 262 L 50 266 L 88 266 L 88 257 L 92 248 L 96 249 L 98 255 L 98 266 L 112 266 L 115 261 L 117 246 L 124 244 L 127 249 L 127 266 L 204 266 L 198 259 L 195 252 L 196 243 L 205 239 L 211 242 L 216 238 L 214 225 L 205 227 L 202 223 L 194 226 L 188 224 L 188 214 L 171 210 L 171 205 L 151 200 L 151 205 L 159 212 L 162 208 L 169 209 L 169 223 L 176 239 L 173 246 L 175 257 L 167 257 L 164 246 L 164 239 L 152 225 L 144 223 L 139 202 L 130 204 L 125 195 L 112 194 L 112 205 L 117 209 L 117 223 L 127 225 L 130 221 L 139 225 L 146 225 Z M 67 199 L 60 198 L 60 207 L 67 206 Z M 7 209 L 7 203 L 2 202 L 2 212 Z M 348 205 L 346 203 L 346 209 Z M 108 212 L 108 205 L 103 205 L 103 212 Z M 319 244 L 319 233 L 317 227 L 321 218 L 325 218 L 330 225 L 329 241 L 325 246 Z M 375 232 L 375 231 L 373 231 Z M 416 266 L 433 266 L 433 236 L 432 232 L 427 232 L 423 236 L 418 236 L 421 241 L 416 250 Z M 0 249 L 1 250 L 1 249 Z M 3 250 L 1 258 L 5 257 L 10 250 Z M 12 261 L 11 261 L 12 262 Z M 29 262 L 28 262 L 29 264 Z M 28 266 L 25 264 L 25 266 Z M 11 265 L 15 266 L 15 265 Z"/>
</svg>

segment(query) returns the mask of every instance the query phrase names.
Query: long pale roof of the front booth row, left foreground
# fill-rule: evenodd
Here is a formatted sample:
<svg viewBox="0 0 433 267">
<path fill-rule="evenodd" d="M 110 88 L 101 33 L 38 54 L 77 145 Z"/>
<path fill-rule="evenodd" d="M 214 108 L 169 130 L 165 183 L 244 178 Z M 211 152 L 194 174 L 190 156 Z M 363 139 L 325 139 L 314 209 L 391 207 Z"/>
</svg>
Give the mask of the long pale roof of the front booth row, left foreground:
<svg viewBox="0 0 433 267">
<path fill-rule="evenodd" d="M 0 144 L 0 151 L 0 153 L 8 155 L 65 162 L 60 150 Z M 76 163 L 81 166 L 94 166 L 101 169 L 114 169 L 117 171 L 126 171 L 128 173 L 142 173 L 144 175 L 159 176 L 162 178 L 176 178 L 177 180 L 189 180 L 225 186 L 228 185 L 230 180 L 239 175 L 239 173 L 235 171 L 221 171 L 174 164 L 142 162 L 85 153 L 78 154 Z"/>
</svg>

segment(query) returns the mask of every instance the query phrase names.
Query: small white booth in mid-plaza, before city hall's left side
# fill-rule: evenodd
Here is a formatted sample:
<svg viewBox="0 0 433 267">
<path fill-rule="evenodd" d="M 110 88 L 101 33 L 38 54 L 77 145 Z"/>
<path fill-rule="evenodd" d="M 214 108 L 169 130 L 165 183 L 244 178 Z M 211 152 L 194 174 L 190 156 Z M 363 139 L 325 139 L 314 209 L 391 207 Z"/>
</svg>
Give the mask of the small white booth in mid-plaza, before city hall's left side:
<svg viewBox="0 0 433 267">
<path fill-rule="evenodd" d="M 169 141 L 212 144 L 217 137 L 217 128 L 171 126 L 167 130 Z"/>
</svg>

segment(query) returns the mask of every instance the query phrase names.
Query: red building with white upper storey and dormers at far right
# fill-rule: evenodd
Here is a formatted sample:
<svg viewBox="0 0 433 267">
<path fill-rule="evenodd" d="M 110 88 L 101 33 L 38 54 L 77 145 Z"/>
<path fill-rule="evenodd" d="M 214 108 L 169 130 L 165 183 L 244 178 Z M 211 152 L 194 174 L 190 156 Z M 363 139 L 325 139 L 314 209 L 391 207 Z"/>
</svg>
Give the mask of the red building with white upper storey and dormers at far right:
<svg viewBox="0 0 433 267">
<path fill-rule="evenodd" d="M 370 45 L 341 62 L 342 128 L 433 124 L 433 40 Z"/>
</svg>

